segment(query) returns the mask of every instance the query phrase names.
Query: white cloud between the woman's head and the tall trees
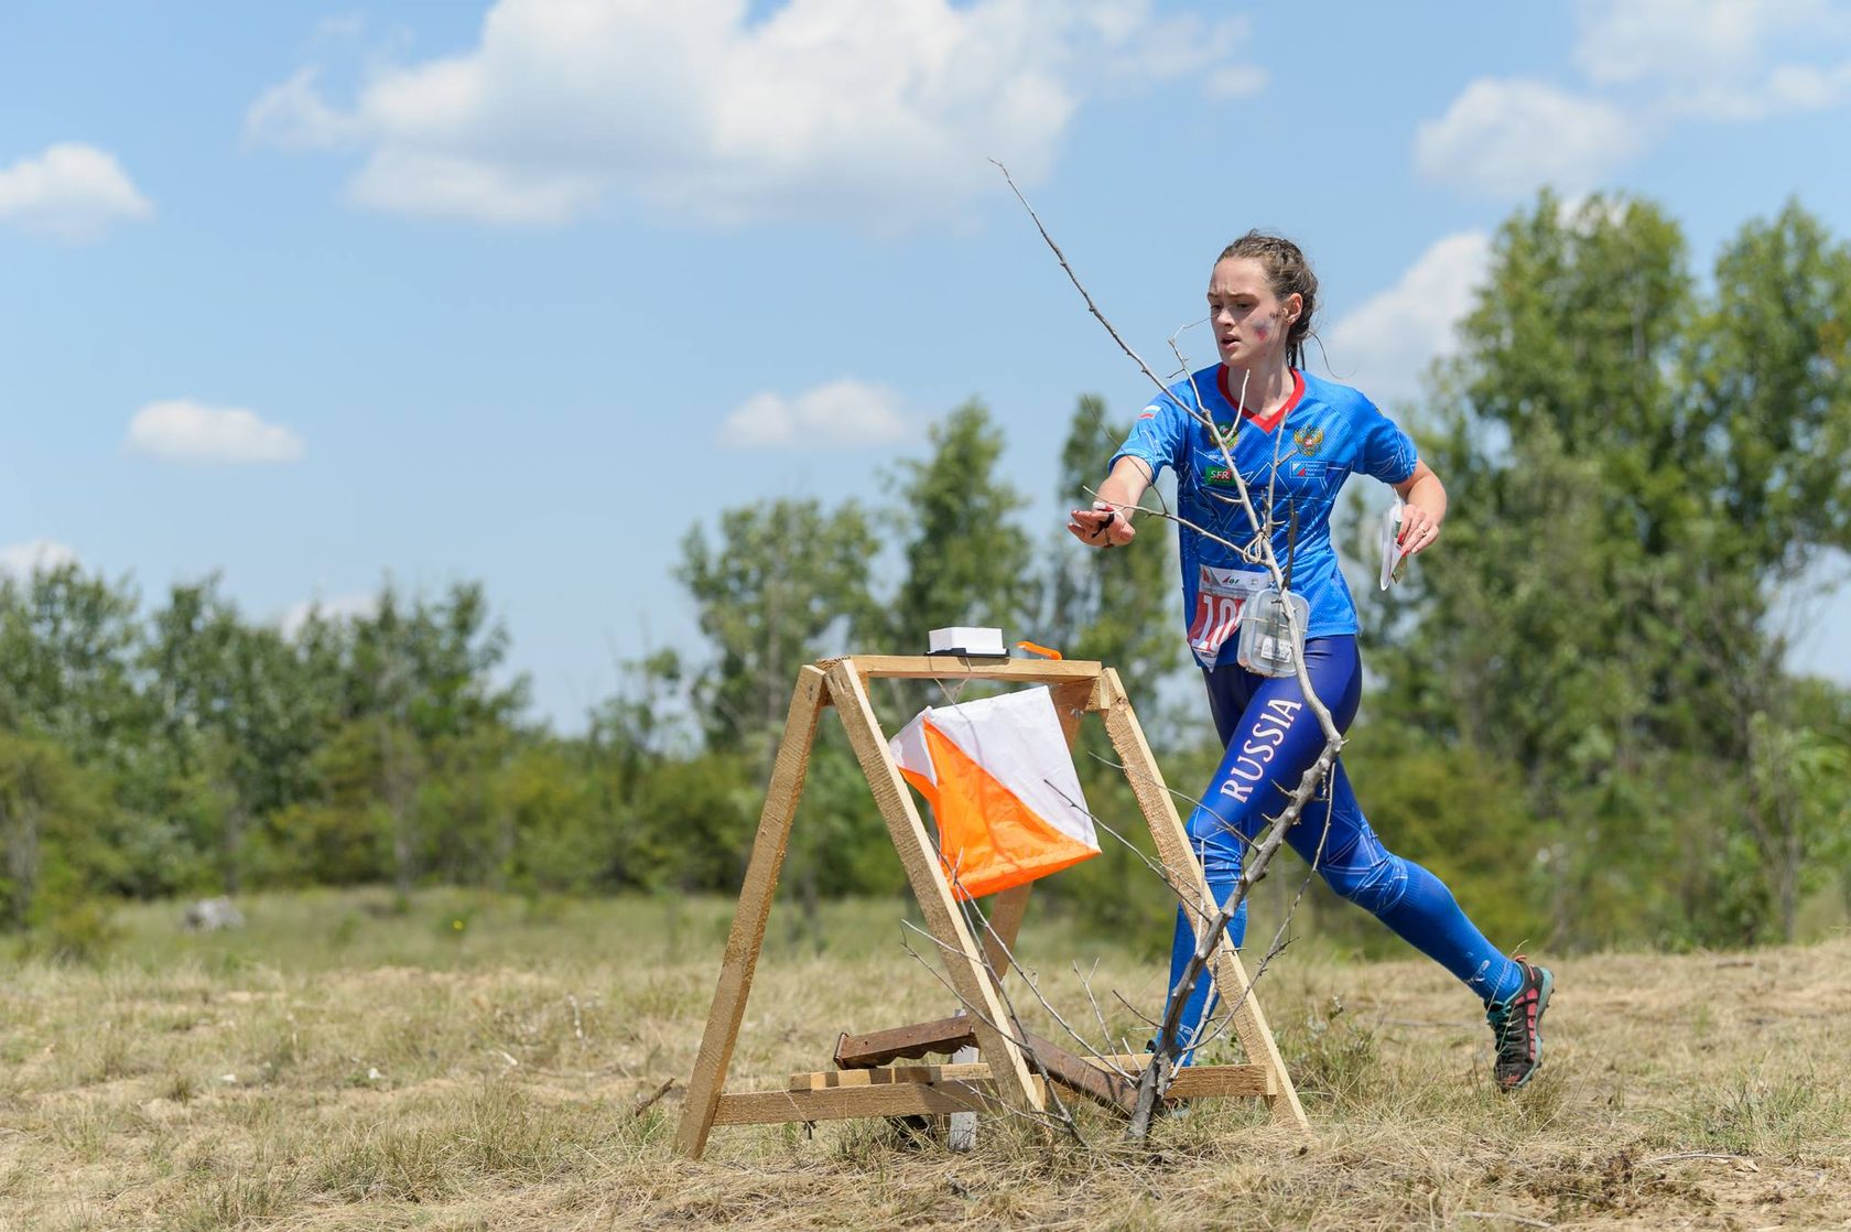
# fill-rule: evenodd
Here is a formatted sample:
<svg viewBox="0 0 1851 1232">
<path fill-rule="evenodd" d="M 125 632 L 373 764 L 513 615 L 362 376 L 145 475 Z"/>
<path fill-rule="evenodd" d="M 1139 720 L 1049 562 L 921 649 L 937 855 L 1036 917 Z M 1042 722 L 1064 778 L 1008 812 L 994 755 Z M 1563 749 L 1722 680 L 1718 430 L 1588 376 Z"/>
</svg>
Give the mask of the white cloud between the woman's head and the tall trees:
<svg viewBox="0 0 1851 1232">
<path fill-rule="evenodd" d="M 1490 265 L 1490 237 L 1460 232 L 1429 246 L 1396 285 L 1331 326 L 1327 354 L 1338 376 L 1375 402 L 1420 393 L 1427 365 L 1451 354 L 1459 319 Z"/>
</svg>

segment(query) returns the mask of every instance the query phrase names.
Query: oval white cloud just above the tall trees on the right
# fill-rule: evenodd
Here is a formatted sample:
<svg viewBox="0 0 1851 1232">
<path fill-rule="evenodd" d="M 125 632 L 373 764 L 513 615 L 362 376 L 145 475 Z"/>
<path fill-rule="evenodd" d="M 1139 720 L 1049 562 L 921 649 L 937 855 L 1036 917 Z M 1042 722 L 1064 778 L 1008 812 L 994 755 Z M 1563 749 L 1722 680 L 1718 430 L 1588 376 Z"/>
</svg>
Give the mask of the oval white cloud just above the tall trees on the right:
<svg viewBox="0 0 1851 1232">
<path fill-rule="evenodd" d="M 1599 98 L 1542 82 L 1479 78 L 1414 135 L 1414 165 L 1429 180 L 1492 195 L 1551 183 L 1592 187 L 1644 145 L 1640 122 Z"/>
</svg>

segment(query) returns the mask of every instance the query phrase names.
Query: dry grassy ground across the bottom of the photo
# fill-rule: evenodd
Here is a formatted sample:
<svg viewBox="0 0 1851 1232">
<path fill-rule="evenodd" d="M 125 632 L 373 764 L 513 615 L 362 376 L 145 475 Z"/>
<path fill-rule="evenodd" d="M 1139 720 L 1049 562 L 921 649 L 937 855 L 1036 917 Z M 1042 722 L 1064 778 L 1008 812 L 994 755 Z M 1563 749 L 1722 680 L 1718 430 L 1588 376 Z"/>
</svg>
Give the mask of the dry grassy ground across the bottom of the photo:
<svg viewBox="0 0 1851 1232">
<path fill-rule="evenodd" d="M 1314 1130 L 1203 1102 L 1127 1147 L 987 1119 L 979 1149 L 885 1125 L 674 1123 L 727 904 L 455 893 L 254 899 L 250 926 L 118 913 L 98 967 L 13 965 L 0 999 L 0 1226 L 1844 1226 L 1851 941 L 1559 962 L 1547 1067 L 1488 1087 L 1475 1004 L 1425 962 L 1294 947 L 1262 982 Z M 835 1032 L 950 1012 L 901 906 L 774 917 L 733 1063 L 783 1086 Z M 1037 921 L 1051 999 L 1155 1006 L 1161 973 Z M 1098 947 L 1090 947 L 1096 950 Z M 1133 1043 L 1129 1012 L 1114 1032 Z M 665 1080 L 676 1087 L 633 1113 Z"/>
</svg>

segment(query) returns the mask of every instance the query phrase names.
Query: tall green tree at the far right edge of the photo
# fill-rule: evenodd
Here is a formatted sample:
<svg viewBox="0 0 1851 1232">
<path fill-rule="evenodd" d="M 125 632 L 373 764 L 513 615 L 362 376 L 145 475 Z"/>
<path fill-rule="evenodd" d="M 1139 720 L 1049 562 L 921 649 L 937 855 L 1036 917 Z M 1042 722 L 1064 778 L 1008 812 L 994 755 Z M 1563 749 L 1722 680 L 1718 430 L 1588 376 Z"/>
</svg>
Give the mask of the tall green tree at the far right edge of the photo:
<svg viewBox="0 0 1851 1232">
<path fill-rule="evenodd" d="M 1753 865 L 1792 939 L 1807 873 L 1844 850 L 1818 802 L 1821 784 L 1844 784 L 1842 756 L 1803 713 L 1821 702 L 1784 669 L 1777 608 L 1823 552 L 1851 548 L 1851 246 L 1794 202 L 1745 224 L 1716 261 L 1684 380 L 1671 467 L 1694 506 L 1681 537 L 1694 585 L 1673 610 L 1690 647 L 1679 684 L 1708 702 L 1707 743 L 1747 771 Z"/>
</svg>

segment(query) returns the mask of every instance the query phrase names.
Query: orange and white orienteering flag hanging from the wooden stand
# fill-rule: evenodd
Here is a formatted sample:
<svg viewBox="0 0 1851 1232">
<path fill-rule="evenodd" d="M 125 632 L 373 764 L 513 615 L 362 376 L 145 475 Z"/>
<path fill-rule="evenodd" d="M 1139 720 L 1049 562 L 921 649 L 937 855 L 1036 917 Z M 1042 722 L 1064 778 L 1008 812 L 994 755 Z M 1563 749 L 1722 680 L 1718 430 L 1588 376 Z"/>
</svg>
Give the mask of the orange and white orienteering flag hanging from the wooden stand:
<svg viewBox="0 0 1851 1232">
<path fill-rule="evenodd" d="M 959 899 L 981 899 L 1099 854 L 1046 687 L 927 706 L 887 747 L 931 804 Z"/>
</svg>

